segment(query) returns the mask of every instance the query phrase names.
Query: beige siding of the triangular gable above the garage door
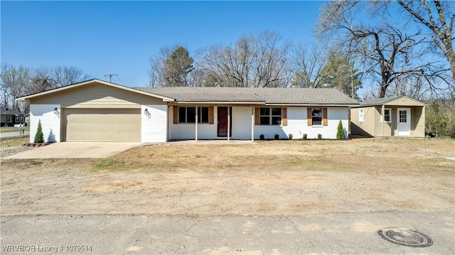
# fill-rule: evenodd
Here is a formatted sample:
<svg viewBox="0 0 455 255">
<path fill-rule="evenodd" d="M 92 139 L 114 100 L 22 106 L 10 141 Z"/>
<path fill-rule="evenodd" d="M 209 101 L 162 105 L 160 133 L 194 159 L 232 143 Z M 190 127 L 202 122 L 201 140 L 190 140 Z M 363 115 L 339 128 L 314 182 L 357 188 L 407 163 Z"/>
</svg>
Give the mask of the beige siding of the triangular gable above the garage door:
<svg viewBox="0 0 455 255">
<path fill-rule="evenodd" d="M 161 99 L 116 87 L 89 84 L 31 99 L 31 104 L 60 104 L 62 108 L 130 108 L 141 104 L 166 104 Z"/>
</svg>

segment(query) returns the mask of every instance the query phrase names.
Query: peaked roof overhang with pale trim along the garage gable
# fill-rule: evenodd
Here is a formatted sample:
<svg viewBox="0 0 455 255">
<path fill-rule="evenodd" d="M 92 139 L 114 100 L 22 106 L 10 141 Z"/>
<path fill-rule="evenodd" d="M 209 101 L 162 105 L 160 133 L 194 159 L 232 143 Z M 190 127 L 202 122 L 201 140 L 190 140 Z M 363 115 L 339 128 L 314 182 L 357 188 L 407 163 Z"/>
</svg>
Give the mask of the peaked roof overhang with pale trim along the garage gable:
<svg viewBox="0 0 455 255">
<path fill-rule="evenodd" d="M 52 94 L 52 93 L 55 93 L 55 92 L 64 91 L 66 89 L 73 89 L 75 87 L 85 86 L 85 85 L 89 85 L 89 84 L 92 84 L 92 83 L 98 83 L 98 84 L 102 84 L 102 85 L 107 85 L 107 86 L 110 86 L 110 87 L 115 87 L 117 89 L 124 89 L 124 90 L 129 91 L 129 92 L 134 92 L 134 93 L 137 93 L 137 94 L 144 94 L 144 95 L 149 96 L 149 97 L 156 97 L 156 98 L 162 99 L 164 102 L 174 102 L 175 101 L 173 98 L 170 98 L 170 97 L 163 97 L 163 96 L 160 96 L 159 94 L 152 94 L 152 93 L 149 93 L 149 92 L 141 91 L 139 89 L 132 89 L 131 87 L 125 87 L 125 86 L 122 86 L 122 85 L 117 85 L 117 84 L 114 84 L 114 83 L 111 83 L 111 82 L 105 82 L 104 80 L 98 80 L 98 79 L 87 80 L 85 82 L 79 82 L 79 83 L 75 83 L 73 85 L 68 85 L 68 86 L 65 86 L 65 87 L 58 87 L 57 89 L 50 89 L 48 91 L 40 92 L 40 93 L 36 93 L 36 94 L 29 94 L 29 95 L 24 96 L 24 97 L 16 98 L 16 101 L 30 101 L 30 99 L 33 99 L 35 97 L 41 97 L 41 96 L 44 96 L 46 94 Z"/>
</svg>

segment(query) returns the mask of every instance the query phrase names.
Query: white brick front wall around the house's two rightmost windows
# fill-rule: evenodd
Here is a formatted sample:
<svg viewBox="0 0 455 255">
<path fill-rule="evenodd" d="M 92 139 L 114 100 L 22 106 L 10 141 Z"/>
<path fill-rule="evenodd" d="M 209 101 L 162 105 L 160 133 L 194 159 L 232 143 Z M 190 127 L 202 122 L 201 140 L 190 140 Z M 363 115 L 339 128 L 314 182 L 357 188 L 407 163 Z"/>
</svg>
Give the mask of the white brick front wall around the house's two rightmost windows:
<svg viewBox="0 0 455 255">
<path fill-rule="evenodd" d="M 279 139 L 302 139 L 306 134 L 307 139 L 317 139 L 318 134 L 322 139 L 336 139 L 338 122 L 341 120 L 346 138 L 348 137 L 348 107 L 327 107 L 327 126 L 308 126 L 306 124 L 306 107 L 287 107 L 287 126 L 255 126 L 255 139 L 264 134 L 265 139 L 274 139 L 275 134 Z"/>
</svg>

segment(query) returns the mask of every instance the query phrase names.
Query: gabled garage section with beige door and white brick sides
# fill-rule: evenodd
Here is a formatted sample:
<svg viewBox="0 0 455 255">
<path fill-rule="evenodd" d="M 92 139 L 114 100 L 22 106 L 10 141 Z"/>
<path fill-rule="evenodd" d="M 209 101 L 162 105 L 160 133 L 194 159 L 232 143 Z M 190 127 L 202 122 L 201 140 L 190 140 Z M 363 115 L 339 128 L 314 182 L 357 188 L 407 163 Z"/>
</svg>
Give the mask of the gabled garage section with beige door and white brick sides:
<svg viewBox="0 0 455 255">
<path fill-rule="evenodd" d="M 174 99 L 102 80 L 18 98 L 30 102 L 30 141 L 38 123 L 45 142 L 163 142 Z"/>
</svg>

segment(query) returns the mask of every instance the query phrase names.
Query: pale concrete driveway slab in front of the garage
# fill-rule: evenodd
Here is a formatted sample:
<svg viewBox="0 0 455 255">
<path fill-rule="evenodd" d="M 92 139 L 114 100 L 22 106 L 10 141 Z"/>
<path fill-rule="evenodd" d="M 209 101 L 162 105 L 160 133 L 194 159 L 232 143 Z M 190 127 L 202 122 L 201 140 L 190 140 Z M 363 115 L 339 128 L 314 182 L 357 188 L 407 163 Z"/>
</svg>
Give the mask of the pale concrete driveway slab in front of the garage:
<svg viewBox="0 0 455 255">
<path fill-rule="evenodd" d="M 52 143 L 6 158 L 108 158 L 139 145 L 141 143 Z"/>
</svg>

